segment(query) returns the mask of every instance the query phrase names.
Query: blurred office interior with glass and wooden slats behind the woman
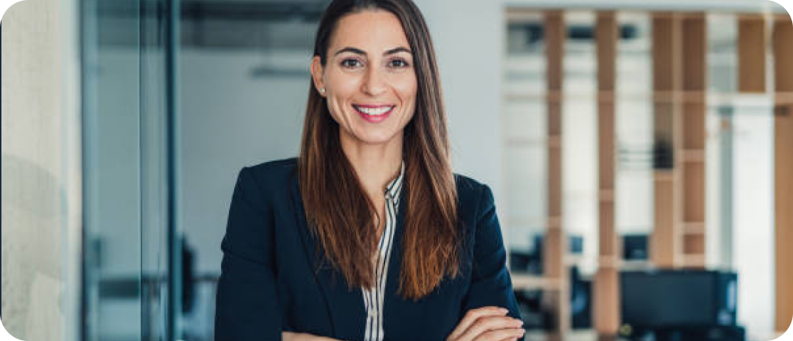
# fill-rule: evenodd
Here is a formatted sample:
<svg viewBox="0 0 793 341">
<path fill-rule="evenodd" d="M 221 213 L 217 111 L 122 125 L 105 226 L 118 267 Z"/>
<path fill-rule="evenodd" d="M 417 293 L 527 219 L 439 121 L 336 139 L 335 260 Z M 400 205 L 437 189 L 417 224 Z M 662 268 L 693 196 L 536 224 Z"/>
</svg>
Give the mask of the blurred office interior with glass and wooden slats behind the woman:
<svg viewBox="0 0 793 341">
<path fill-rule="evenodd" d="M 793 4 L 416 3 L 527 339 L 793 339 Z M 327 5 L 6 10 L 2 339 L 213 339 L 236 174 L 297 155 Z"/>
</svg>

